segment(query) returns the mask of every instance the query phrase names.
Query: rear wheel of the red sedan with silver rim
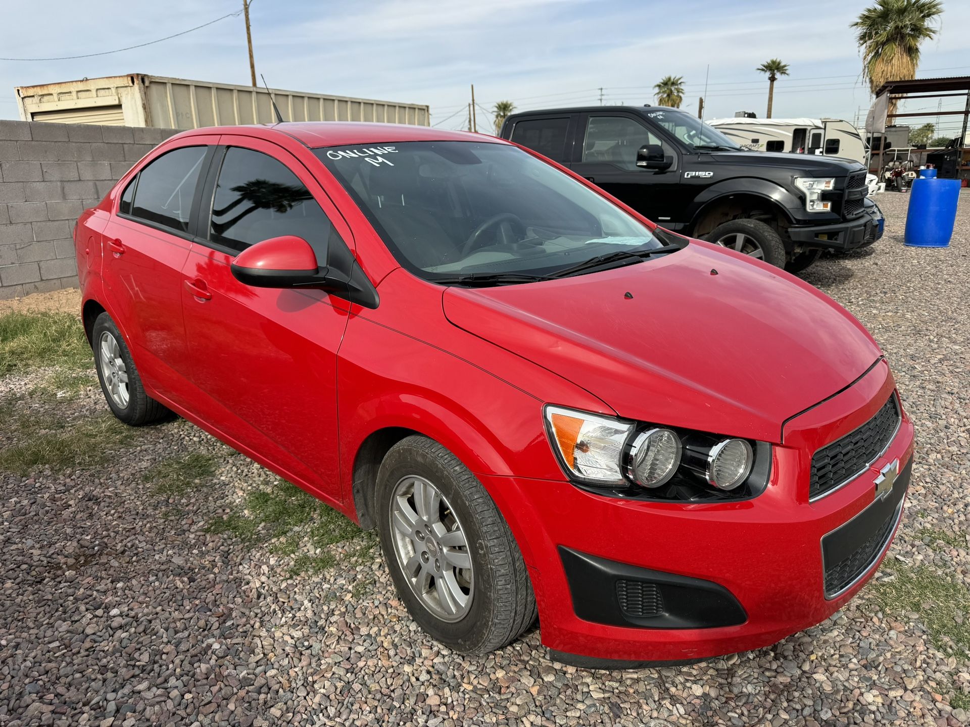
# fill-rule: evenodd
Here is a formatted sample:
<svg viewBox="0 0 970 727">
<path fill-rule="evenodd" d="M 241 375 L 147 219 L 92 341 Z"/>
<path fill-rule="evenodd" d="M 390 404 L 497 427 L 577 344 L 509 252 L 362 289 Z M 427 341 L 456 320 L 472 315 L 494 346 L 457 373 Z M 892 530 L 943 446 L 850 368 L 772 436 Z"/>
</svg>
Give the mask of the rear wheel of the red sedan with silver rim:
<svg viewBox="0 0 970 727">
<path fill-rule="evenodd" d="M 126 425 L 141 427 L 171 415 L 145 393 L 128 344 L 108 313 L 102 313 L 94 321 L 91 347 L 101 391 L 115 417 Z"/>
</svg>

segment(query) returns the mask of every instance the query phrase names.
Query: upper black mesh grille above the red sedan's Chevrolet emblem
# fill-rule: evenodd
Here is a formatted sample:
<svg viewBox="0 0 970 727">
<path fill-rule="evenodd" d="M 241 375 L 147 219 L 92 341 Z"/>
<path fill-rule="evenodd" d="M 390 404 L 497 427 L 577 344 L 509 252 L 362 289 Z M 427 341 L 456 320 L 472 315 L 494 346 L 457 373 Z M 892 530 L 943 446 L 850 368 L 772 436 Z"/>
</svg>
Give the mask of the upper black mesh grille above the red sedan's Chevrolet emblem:
<svg viewBox="0 0 970 727">
<path fill-rule="evenodd" d="M 840 487 L 872 464 L 889 446 L 898 424 L 896 397 L 890 395 L 876 416 L 816 452 L 812 457 L 809 498 Z"/>
</svg>

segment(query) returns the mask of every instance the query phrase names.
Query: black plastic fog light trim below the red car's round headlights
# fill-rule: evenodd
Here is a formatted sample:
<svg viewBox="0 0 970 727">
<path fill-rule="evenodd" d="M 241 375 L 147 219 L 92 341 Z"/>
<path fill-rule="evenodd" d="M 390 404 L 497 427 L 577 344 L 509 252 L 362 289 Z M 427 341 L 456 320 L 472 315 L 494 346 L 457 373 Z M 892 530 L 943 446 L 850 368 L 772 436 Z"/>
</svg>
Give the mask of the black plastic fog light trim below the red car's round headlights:
<svg viewBox="0 0 970 727">
<path fill-rule="evenodd" d="M 683 629 L 736 626 L 748 620 L 737 599 L 723 585 L 699 578 L 640 568 L 559 546 L 576 616 L 593 623 L 641 628 Z M 663 613 L 624 614 L 616 582 L 651 583 L 663 593 Z"/>
</svg>

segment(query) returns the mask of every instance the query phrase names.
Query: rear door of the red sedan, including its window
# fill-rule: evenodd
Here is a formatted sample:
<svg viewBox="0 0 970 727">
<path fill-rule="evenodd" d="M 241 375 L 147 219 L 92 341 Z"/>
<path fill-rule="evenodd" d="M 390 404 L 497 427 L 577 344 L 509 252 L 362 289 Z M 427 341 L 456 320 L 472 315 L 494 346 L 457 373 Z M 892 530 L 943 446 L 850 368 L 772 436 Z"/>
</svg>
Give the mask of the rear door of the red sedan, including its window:
<svg viewBox="0 0 970 727">
<path fill-rule="evenodd" d="M 102 233 L 107 307 L 146 382 L 179 402 L 190 388 L 181 270 L 193 207 L 217 141 L 191 137 L 158 150 L 128 181 Z"/>
</svg>

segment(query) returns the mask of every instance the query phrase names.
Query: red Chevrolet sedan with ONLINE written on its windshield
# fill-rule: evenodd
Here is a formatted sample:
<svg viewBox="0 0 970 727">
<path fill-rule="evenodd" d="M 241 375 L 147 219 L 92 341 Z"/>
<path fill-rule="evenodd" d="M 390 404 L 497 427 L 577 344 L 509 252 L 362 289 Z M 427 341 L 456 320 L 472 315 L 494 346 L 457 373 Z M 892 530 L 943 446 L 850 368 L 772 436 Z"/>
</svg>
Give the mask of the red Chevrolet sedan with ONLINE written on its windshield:
<svg viewBox="0 0 970 727">
<path fill-rule="evenodd" d="M 449 648 L 536 614 L 579 665 L 760 648 L 901 519 L 913 426 L 855 318 L 515 144 L 185 132 L 75 239 L 118 419 L 176 412 L 377 528 Z"/>
</svg>

